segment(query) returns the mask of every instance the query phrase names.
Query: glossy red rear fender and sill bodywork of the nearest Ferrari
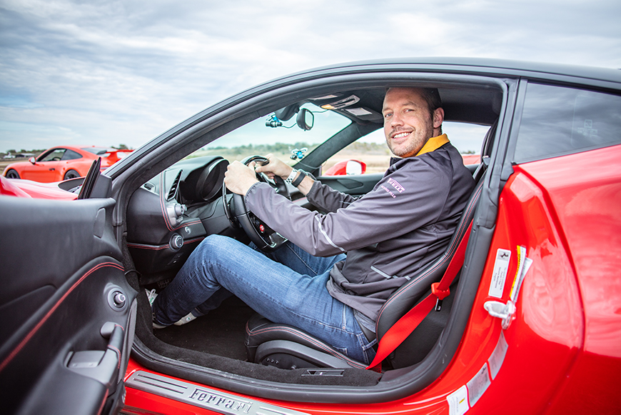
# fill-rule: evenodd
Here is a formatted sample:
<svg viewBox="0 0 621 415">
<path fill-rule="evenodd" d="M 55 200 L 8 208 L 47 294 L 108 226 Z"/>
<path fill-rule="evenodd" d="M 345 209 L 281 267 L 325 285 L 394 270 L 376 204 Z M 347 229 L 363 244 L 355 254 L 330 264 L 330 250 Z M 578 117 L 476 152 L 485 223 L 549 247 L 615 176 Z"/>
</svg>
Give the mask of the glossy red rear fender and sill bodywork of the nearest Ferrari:
<svg viewBox="0 0 621 415">
<path fill-rule="evenodd" d="M 448 369 L 426 389 L 400 401 L 360 406 L 270 403 L 308 414 L 448 414 L 446 397 L 481 372 L 489 384 L 468 414 L 621 412 L 620 158 L 621 146 L 613 146 L 515 166 L 500 195 L 490 254 L 462 343 Z M 515 320 L 503 330 L 483 304 L 507 302 L 518 246 L 533 263 Z M 498 249 L 511 251 L 502 299 L 488 294 Z M 501 332 L 508 349 L 491 379 L 488 362 Z M 131 359 L 126 377 L 136 370 L 148 371 Z M 132 388 L 125 410 L 212 413 Z"/>
</svg>

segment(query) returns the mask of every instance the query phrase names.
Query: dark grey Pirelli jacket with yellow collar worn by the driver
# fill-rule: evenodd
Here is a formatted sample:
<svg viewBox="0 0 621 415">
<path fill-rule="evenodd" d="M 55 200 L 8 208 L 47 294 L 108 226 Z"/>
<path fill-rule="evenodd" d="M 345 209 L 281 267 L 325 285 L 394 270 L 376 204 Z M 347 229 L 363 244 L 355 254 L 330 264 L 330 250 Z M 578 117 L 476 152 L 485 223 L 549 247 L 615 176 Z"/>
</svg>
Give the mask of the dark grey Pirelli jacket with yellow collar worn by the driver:
<svg viewBox="0 0 621 415">
<path fill-rule="evenodd" d="M 472 174 L 443 135 L 416 156 L 391 159 L 383 178 L 359 199 L 315 181 L 306 197 L 325 214 L 288 201 L 266 183 L 248 190 L 246 206 L 310 254 L 347 253 L 330 271 L 327 289 L 357 317 L 368 317 L 361 323 L 371 329 L 388 296 L 443 253 L 473 189 Z"/>
</svg>

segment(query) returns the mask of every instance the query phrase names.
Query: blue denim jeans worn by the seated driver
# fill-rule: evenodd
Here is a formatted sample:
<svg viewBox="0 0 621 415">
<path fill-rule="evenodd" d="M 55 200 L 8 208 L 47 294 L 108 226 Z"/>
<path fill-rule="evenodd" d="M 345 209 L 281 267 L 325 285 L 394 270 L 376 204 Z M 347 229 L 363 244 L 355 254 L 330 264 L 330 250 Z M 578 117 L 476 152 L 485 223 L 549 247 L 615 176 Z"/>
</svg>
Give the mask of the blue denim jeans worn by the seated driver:
<svg viewBox="0 0 621 415">
<path fill-rule="evenodd" d="M 226 236 L 204 239 L 175 279 L 153 302 L 158 324 L 173 324 L 190 311 L 216 309 L 231 293 L 274 323 L 290 324 L 322 339 L 351 359 L 375 356 L 353 309 L 328 294 L 332 266 L 345 254 L 321 258 L 288 242 L 270 254 Z"/>
</svg>

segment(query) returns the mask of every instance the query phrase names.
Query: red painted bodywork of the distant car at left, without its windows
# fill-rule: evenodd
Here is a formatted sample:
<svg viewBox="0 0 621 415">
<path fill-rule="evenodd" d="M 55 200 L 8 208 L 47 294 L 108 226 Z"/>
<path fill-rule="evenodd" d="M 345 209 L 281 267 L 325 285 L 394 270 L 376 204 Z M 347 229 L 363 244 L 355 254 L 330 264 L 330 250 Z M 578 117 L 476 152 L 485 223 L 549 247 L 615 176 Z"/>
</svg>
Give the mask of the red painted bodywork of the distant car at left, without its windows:
<svg viewBox="0 0 621 415">
<path fill-rule="evenodd" d="M 94 147 L 94 146 L 90 146 Z M 3 176 L 6 176 L 6 172 L 9 170 L 14 170 L 19 174 L 20 179 L 27 179 L 33 181 L 40 181 L 41 183 L 51 183 L 54 181 L 61 181 L 64 179 L 64 176 L 67 171 L 75 170 L 79 173 L 81 177 L 86 176 L 86 173 L 89 172 L 91 168 L 91 164 L 96 160 L 99 155 L 93 154 L 85 149 L 89 148 L 89 146 L 58 146 L 52 149 L 48 149 L 44 151 L 42 154 L 46 154 L 49 150 L 53 149 L 68 149 L 71 151 L 75 151 L 80 154 L 81 159 L 73 159 L 73 160 L 61 160 L 61 161 L 39 161 L 41 156 L 37 157 L 37 161 L 33 164 L 31 161 L 18 161 L 16 163 L 11 163 L 9 166 L 6 166 Z M 124 155 L 128 154 L 133 150 L 115 150 L 110 149 L 106 154 L 101 155 L 101 170 L 107 169 L 112 164 L 116 163 L 116 161 L 123 158 Z"/>
</svg>

